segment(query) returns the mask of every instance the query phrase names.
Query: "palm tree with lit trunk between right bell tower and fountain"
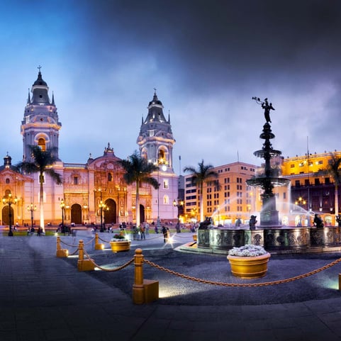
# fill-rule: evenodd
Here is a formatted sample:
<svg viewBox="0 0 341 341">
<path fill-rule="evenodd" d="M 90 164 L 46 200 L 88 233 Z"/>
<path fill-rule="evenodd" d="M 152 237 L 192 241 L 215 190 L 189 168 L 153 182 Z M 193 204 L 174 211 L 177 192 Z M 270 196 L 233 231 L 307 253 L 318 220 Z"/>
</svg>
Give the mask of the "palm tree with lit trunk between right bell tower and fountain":
<svg viewBox="0 0 341 341">
<path fill-rule="evenodd" d="M 203 164 L 203 160 L 198 163 L 198 169 L 194 167 L 184 167 L 184 172 L 193 173 L 192 183 L 199 188 L 200 220 L 203 221 L 203 184 L 211 179 L 217 179 L 218 173 L 213 169 L 212 164 Z"/>
</svg>

